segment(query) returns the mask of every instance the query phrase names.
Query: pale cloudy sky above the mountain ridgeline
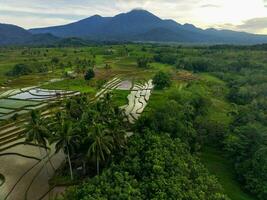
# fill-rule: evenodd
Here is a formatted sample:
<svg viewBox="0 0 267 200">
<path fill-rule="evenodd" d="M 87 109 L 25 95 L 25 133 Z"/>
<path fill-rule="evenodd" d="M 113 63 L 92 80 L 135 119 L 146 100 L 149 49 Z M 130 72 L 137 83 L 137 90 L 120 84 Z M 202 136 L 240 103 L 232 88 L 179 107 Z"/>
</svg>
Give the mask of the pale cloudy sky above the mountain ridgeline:
<svg viewBox="0 0 267 200">
<path fill-rule="evenodd" d="M 0 23 L 28 29 L 95 14 L 114 16 L 135 8 L 203 29 L 267 34 L 267 0 L 0 0 Z"/>
</svg>

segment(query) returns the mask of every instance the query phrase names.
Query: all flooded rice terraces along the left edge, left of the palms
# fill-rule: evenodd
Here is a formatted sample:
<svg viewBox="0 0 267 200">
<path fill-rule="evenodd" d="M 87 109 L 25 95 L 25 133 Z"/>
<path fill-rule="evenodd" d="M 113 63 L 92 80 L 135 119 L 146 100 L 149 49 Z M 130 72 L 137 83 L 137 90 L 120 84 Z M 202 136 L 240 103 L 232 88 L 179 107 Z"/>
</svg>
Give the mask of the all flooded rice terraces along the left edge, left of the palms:
<svg viewBox="0 0 267 200">
<path fill-rule="evenodd" d="M 15 113 L 24 114 L 40 109 L 50 102 L 61 100 L 78 92 L 44 90 L 39 88 L 21 89 L 20 92 L 6 92 L 0 98 L 0 118 L 9 119 Z M 34 97 L 34 98 L 33 98 Z M 42 112 L 43 117 L 54 114 L 53 110 Z M 50 147 L 48 162 L 46 151 L 32 144 L 25 144 L 23 133 L 28 117 L 19 118 L 0 127 L 0 199 L 35 200 L 47 195 L 49 178 L 64 161 L 63 152 L 55 154 Z M 40 152 L 41 150 L 41 152 Z M 45 158 L 45 159 L 43 159 Z"/>
</svg>

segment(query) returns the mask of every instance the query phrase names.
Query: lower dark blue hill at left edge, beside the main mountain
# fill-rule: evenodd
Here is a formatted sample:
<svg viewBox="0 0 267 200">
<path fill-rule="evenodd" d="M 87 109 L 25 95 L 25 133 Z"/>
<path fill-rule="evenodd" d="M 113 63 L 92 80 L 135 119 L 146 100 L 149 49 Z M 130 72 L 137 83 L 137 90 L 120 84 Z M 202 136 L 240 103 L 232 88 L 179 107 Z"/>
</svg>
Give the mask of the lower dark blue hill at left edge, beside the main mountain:
<svg viewBox="0 0 267 200">
<path fill-rule="evenodd" d="M 0 24 L 0 45 L 47 45 L 59 39 L 52 34 L 32 34 L 11 24 Z"/>
</svg>

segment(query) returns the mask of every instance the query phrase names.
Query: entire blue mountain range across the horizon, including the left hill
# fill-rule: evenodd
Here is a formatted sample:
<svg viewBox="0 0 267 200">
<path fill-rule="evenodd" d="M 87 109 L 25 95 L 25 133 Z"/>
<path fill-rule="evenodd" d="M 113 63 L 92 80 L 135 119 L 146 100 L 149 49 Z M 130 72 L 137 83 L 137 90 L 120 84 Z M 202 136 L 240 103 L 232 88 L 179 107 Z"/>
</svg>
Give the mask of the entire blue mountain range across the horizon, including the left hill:
<svg viewBox="0 0 267 200">
<path fill-rule="evenodd" d="M 267 36 L 231 30 L 204 30 L 192 24 L 163 20 L 145 10 L 132 10 L 114 17 L 94 15 L 62 26 L 30 30 L 0 24 L 0 45 L 77 45 L 86 41 L 261 44 L 267 43 Z"/>
</svg>

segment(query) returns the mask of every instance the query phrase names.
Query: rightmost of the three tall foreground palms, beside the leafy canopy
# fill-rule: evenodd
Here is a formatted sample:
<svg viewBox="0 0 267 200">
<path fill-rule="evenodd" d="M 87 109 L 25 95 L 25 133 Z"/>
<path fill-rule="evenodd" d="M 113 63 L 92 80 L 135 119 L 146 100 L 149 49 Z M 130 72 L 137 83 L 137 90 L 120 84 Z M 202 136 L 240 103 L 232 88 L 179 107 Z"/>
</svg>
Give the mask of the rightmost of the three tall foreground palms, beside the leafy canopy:
<svg viewBox="0 0 267 200">
<path fill-rule="evenodd" d="M 92 143 L 88 149 L 88 156 L 96 159 L 97 174 L 99 175 L 99 162 L 105 160 L 113 149 L 113 138 L 108 134 L 102 124 L 94 124 L 88 134 Z"/>
</svg>

